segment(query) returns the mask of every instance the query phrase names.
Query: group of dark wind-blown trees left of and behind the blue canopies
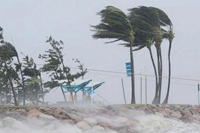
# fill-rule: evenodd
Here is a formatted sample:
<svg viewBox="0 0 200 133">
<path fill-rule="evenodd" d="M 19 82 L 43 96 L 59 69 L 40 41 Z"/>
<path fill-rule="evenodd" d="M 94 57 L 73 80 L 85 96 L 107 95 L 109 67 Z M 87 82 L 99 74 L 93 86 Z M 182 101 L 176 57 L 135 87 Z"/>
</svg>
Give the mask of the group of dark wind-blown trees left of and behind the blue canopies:
<svg viewBox="0 0 200 133">
<path fill-rule="evenodd" d="M 46 41 L 50 49 L 39 58 L 45 64 L 38 68 L 33 58 L 24 56 L 20 62 L 16 48 L 3 38 L 3 28 L 0 27 L 0 101 L 5 97 L 4 104 L 26 105 L 26 102 L 37 105 L 44 103 L 44 95 L 51 89 L 59 87 L 57 80 L 67 79 L 70 84 L 74 79 L 86 74 L 87 69 L 77 59 L 80 72 L 72 74 L 70 68 L 64 64 L 62 53 L 64 43 L 56 41 L 52 37 Z M 49 80 L 43 81 L 46 74 Z M 62 89 L 62 88 L 61 88 Z M 66 97 L 62 89 L 64 99 Z"/>
</svg>

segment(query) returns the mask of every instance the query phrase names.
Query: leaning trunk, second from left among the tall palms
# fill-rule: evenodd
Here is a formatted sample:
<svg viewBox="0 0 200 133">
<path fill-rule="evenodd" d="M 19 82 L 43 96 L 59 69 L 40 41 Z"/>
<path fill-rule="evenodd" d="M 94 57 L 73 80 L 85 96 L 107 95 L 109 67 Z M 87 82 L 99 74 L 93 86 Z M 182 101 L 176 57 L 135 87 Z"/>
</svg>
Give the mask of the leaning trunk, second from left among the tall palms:
<svg viewBox="0 0 200 133">
<path fill-rule="evenodd" d="M 155 80 L 156 80 L 155 97 L 154 97 L 154 100 L 153 100 L 152 103 L 156 104 L 157 92 L 158 92 L 158 74 L 157 74 L 156 65 L 155 65 L 155 61 L 153 59 L 153 54 L 152 54 L 151 48 L 148 48 L 148 50 L 149 50 L 149 53 L 150 53 L 151 62 L 153 64 L 153 69 L 154 69 L 154 74 L 155 74 Z"/>
</svg>

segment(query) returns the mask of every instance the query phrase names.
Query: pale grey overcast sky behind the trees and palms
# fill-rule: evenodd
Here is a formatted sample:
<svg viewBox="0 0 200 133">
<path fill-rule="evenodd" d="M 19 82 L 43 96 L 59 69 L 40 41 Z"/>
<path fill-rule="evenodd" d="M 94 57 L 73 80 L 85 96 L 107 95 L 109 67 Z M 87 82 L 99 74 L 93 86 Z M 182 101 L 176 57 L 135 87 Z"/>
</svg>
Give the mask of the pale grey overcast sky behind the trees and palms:
<svg viewBox="0 0 200 133">
<path fill-rule="evenodd" d="M 96 92 L 111 104 L 124 103 L 121 86 L 123 78 L 126 100 L 130 103 L 130 77 L 125 74 L 125 62 L 129 61 L 128 48 L 104 44 L 108 40 L 92 38 L 90 25 L 100 22 L 96 13 L 108 5 L 116 6 L 125 13 L 127 9 L 141 5 L 155 6 L 168 14 L 175 32 L 171 54 L 172 77 L 175 78 L 171 81 L 169 102 L 197 104 L 197 84 L 200 83 L 200 3 L 197 0 L 0 0 L 0 26 L 4 28 L 4 39 L 11 42 L 19 53 L 32 56 L 37 64 L 43 64 L 37 57 L 49 48 L 45 41 L 51 35 L 65 43 L 66 65 L 75 67 L 72 58 L 78 58 L 88 69 L 124 72 L 89 70 L 85 78 L 105 81 Z M 167 77 L 168 72 L 167 49 L 168 42 L 165 40 L 162 44 L 164 77 Z M 20 57 L 23 55 L 20 54 Z M 134 59 L 136 74 L 154 74 L 146 48 L 134 52 Z M 76 72 L 76 69 L 72 70 Z M 136 76 L 137 102 L 140 102 L 140 77 Z M 147 79 L 148 103 L 151 103 L 155 81 L 151 76 Z M 167 79 L 163 79 L 162 100 L 166 88 Z M 63 97 L 57 89 L 52 90 L 45 99 L 55 102 L 62 101 Z M 100 100 L 98 96 L 96 99 Z"/>
</svg>

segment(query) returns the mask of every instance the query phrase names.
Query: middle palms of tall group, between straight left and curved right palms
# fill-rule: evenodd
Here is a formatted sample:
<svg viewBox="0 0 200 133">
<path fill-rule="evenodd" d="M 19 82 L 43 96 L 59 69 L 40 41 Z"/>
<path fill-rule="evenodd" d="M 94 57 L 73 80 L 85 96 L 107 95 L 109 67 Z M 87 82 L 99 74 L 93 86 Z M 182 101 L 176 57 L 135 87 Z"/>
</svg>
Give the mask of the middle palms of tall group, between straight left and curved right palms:
<svg viewBox="0 0 200 133">
<path fill-rule="evenodd" d="M 155 91 L 155 98 L 153 103 L 159 103 L 159 81 L 160 81 L 160 56 L 157 54 L 157 60 L 158 60 L 158 75 L 157 70 L 155 67 L 152 51 L 151 51 L 151 45 L 157 44 L 157 53 L 159 46 L 161 44 L 162 36 L 160 34 L 160 25 L 157 15 L 150 10 L 148 7 L 141 6 L 137 8 L 132 8 L 129 10 L 129 19 L 135 25 L 136 33 L 138 32 L 141 36 L 145 37 L 146 42 L 145 45 L 147 46 L 151 61 L 154 68 L 155 78 L 156 78 L 156 91 Z"/>
</svg>

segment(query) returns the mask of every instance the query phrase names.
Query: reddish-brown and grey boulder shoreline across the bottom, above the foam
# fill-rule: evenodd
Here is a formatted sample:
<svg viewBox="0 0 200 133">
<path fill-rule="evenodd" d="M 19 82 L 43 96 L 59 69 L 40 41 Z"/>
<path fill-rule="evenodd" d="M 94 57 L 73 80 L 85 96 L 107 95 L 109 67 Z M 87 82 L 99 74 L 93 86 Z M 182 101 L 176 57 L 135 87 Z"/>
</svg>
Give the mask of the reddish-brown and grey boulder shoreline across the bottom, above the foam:
<svg viewBox="0 0 200 133">
<path fill-rule="evenodd" d="M 146 115 L 200 124 L 200 106 L 197 105 L 2 106 L 0 128 L 14 126 L 14 129 L 20 129 L 23 124 L 31 123 L 37 128 L 53 130 L 56 128 L 53 122 L 59 121 L 63 126 L 75 126 L 77 133 L 138 133 L 135 130 L 138 123 L 136 117 Z M 16 121 L 18 124 L 14 124 Z"/>
</svg>

